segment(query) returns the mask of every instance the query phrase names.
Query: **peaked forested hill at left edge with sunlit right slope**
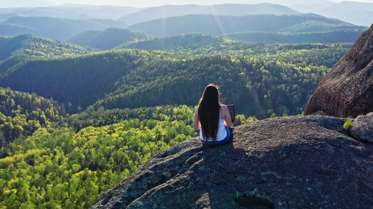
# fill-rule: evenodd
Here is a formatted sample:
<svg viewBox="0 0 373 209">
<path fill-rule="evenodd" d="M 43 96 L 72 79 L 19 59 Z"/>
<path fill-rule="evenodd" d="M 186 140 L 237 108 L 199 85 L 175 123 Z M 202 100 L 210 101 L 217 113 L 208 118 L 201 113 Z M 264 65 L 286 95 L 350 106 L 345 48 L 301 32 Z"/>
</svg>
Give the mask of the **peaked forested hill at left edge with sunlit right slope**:
<svg viewBox="0 0 373 209">
<path fill-rule="evenodd" d="M 93 52 L 77 46 L 33 35 L 0 36 L 0 77 L 6 71 L 37 58 L 64 58 Z"/>
</svg>

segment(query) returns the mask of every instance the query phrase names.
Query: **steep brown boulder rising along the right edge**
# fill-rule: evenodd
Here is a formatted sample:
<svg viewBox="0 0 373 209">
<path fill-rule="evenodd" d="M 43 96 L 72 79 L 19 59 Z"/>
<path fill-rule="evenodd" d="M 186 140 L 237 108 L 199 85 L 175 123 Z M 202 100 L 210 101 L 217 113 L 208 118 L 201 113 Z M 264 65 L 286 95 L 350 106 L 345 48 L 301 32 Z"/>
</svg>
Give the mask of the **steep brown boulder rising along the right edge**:
<svg viewBox="0 0 373 209">
<path fill-rule="evenodd" d="M 305 115 L 354 117 L 373 112 L 373 25 L 317 85 Z"/>
</svg>

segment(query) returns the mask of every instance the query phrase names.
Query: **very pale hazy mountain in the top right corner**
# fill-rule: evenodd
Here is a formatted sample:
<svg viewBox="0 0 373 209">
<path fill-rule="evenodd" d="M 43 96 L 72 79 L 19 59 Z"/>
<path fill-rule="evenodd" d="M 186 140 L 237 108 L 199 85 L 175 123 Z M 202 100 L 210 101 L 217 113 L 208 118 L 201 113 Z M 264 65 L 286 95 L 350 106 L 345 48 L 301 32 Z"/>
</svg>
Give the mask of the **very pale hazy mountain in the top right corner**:
<svg viewBox="0 0 373 209">
<path fill-rule="evenodd" d="M 300 1 L 290 7 L 299 12 L 316 13 L 350 22 L 355 25 L 370 26 L 373 23 L 373 3 L 342 1 L 341 3 L 334 4 L 306 5 Z"/>
</svg>

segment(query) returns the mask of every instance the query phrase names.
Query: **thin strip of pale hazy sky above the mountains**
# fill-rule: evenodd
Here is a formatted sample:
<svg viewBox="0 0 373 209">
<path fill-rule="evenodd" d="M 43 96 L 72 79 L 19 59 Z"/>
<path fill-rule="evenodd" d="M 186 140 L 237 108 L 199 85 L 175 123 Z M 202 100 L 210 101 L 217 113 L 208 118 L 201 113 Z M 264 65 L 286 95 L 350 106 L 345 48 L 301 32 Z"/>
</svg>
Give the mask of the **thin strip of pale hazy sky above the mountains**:
<svg viewBox="0 0 373 209">
<path fill-rule="evenodd" d="M 38 7 L 58 5 L 62 3 L 94 4 L 94 5 L 120 5 L 135 7 L 160 6 L 164 4 L 221 4 L 221 3 L 277 3 L 283 5 L 307 4 L 324 0 L 0 0 L 0 8 L 4 7 Z M 340 0 L 331 0 L 340 2 Z M 350 0 L 373 3 L 373 0 Z"/>
</svg>

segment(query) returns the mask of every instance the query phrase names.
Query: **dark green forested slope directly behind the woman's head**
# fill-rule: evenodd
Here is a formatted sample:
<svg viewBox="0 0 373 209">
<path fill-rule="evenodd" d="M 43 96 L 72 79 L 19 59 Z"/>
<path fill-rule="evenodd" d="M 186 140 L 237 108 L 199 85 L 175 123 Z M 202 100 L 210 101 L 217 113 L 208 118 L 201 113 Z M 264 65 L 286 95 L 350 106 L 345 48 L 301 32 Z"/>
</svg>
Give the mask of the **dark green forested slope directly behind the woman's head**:
<svg viewBox="0 0 373 209">
<path fill-rule="evenodd" d="M 154 60 L 136 68 L 116 83 L 117 90 L 94 106 L 109 109 L 158 106 L 167 104 L 195 105 L 209 83 L 222 85 L 225 102 L 245 109 L 247 115 L 267 118 L 297 115 L 313 93 L 328 68 L 300 67 L 256 58 L 230 56 L 196 57 L 180 60 Z M 169 91 L 173 89 L 173 91 Z"/>
</svg>

